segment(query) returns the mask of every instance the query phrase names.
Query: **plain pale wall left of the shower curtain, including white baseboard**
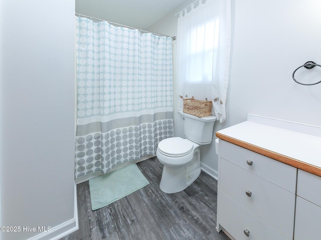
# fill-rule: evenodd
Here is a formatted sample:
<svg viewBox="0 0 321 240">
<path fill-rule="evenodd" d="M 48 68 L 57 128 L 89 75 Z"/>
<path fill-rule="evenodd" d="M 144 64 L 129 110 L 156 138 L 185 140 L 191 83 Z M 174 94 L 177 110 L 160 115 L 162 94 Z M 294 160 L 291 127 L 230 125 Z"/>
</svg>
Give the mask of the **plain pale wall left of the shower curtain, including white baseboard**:
<svg viewBox="0 0 321 240">
<path fill-rule="evenodd" d="M 21 227 L 3 240 L 77 229 L 74 9 L 64 0 L 0 2 L 1 225 Z"/>
</svg>

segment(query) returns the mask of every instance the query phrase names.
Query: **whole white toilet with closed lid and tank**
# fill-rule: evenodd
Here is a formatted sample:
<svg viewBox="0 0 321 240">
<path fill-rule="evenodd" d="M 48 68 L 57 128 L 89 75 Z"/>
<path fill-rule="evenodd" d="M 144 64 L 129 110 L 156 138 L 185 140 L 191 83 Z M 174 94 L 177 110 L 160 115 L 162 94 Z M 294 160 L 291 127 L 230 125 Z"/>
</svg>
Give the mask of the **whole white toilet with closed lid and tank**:
<svg viewBox="0 0 321 240">
<path fill-rule="evenodd" d="M 212 142 L 215 116 L 195 117 L 180 112 L 184 120 L 185 139 L 172 137 L 158 143 L 156 156 L 163 167 L 159 187 L 175 193 L 186 189 L 201 173 L 199 146 Z"/>
</svg>

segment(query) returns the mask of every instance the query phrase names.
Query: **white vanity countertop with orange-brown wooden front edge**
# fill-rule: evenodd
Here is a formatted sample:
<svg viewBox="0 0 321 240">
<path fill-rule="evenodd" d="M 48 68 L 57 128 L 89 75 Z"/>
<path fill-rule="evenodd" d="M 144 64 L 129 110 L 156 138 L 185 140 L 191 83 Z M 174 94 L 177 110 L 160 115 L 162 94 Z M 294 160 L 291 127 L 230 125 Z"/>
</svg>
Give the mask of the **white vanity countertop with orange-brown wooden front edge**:
<svg viewBox="0 0 321 240">
<path fill-rule="evenodd" d="M 217 131 L 216 136 L 321 176 L 321 136 L 252 121 Z"/>
</svg>

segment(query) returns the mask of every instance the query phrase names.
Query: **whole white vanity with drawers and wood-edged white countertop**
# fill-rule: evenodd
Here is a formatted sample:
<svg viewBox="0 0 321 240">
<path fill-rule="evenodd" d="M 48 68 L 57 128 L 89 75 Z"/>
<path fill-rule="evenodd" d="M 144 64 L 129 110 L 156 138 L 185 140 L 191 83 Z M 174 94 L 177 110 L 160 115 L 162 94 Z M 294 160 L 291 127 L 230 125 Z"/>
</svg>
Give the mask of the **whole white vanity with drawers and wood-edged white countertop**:
<svg viewBox="0 0 321 240">
<path fill-rule="evenodd" d="M 321 239 L 321 127 L 248 115 L 216 136 L 218 232 Z"/>
</svg>

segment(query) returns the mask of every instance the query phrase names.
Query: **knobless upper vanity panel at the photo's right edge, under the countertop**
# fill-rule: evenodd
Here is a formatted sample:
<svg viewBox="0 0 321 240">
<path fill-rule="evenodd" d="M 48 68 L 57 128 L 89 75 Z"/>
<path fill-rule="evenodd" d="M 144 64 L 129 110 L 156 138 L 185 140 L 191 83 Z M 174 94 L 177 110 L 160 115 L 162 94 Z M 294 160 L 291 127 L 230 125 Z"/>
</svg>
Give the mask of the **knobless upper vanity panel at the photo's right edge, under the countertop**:
<svg viewBox="0 0 321 240">
<path fill-rule="evenodd" d="M 297 195 L 321 206 L 321 177 L 298 169 L 297 172 Z"/>
</svg>

